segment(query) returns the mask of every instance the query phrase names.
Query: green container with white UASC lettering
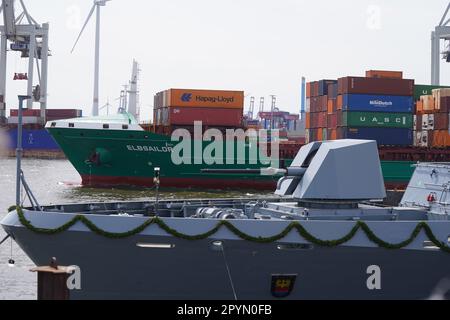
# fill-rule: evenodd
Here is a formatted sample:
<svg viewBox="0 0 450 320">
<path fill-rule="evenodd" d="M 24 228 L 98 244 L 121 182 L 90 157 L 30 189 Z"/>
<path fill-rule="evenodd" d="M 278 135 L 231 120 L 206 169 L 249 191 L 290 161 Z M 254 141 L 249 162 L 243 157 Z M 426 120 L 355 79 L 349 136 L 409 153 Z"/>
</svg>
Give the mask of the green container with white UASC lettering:
<svg viewBox="0 0 450 320">
<path fill-rule="evenodd" d="M 344 112 L 342 116 L 344 127 L 411 129 L 414 120 L 409 113 Z"/>
</svg>

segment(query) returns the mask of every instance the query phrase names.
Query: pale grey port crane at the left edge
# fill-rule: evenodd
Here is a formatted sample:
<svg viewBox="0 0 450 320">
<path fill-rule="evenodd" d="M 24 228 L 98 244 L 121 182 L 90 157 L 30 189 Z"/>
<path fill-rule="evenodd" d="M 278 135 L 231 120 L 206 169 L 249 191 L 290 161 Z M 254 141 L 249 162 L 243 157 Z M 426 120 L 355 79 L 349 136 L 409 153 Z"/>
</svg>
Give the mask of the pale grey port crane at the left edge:
<svg viewBox="0 0 450 320">
<path fill-rule="evenodd" d="M 17 17 L 16 4 L 22 11 Z M 27 108 L 32 109 L 33 102 L 39 102 L 41 122 L 45 123 L 49 24 L 37 23 L 28 12 L 23 0 L 2 0 L 0 12 L 3 13 L 3 25 L 0 26 L 0 123 L 6 121 L 8 51 L 21 52 L 21 58 L 28 59 L 28 72 L 15 73 L 14 80 L 27 81 L 27 95 L 33 97 L 27 101 Z M 9 49 L 8 43 L 10 43 Z M 39 84 L 33 86 L 35 66 Z"/>
</svg>

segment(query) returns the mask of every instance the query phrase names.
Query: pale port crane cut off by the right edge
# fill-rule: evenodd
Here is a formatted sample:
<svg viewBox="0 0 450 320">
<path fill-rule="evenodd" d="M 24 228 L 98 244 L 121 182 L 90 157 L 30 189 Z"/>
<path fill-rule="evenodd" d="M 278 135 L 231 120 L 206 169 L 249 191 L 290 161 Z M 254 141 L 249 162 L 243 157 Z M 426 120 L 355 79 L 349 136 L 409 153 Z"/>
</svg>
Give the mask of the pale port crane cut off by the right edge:
<svg viewBox="0 0 450 320">
<path fill-rule="evenodd" d="M 441 54 L 442 59 L 450 62 L 450 3 L 439 22 L 439 25 L 431 32 L 431 84 L 440 84 L 440 68 L 441 68 Z M 441 52 L 441 40 L 447 42 L 445 51 Z"/>
</svg>

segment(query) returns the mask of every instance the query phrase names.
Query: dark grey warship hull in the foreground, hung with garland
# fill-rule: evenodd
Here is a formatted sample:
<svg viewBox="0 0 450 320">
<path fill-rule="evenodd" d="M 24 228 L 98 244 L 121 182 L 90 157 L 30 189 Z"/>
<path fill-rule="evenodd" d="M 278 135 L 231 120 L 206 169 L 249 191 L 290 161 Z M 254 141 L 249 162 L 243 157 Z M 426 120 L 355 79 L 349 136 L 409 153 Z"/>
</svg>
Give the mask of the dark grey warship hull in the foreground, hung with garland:
<svg viewBox="0 0 450 320">
<path fill-rule="evenodd" d="M 37 226 L 57 226 L 55 213 L 27 215 Z M 90 217 L 98 226 L 116 232 L 129 230 L 142 219 Z M 167 219 L 177 230 L 192 234 L 214 227 L 213 221 Z M 256 222 L 256 223 L 255 223 Z M 295 231 L 283 241 L 252 243 L 237 238 L 227 229 L 205 240 L 183 240 L 165 234 L 157 226 L 127 239 L 107 239 L 80 224 L 70 231 L 48 236 L 30 232 L 11 213 L 3 222 L 6 231 L 36 265 L 47 265 L 57 257 L 62 265 L 81 269 L 81 290 L 73 299 L 275 299 L 273 275 L 296 275 L 292 292 L 285 299 L 426 299 L 442 279 L 450 278 L 450 254 L 430 246 L 424 232 L 405 249 L 379 248 L 360 230 L 346 245 L 323 248 L 309 244 Z M 234 221 L 250 234 L 273 235 L 286 222 Z M 195 225 L 194 225 L 195 224 Z M 120 225 L 121 227 L 117 227 Z M 322 239 L 340 238 L 354 222 L 304 221 L 302 225 Z M 369 227 L 385 241 L 401 242 L 416 227 L 415 222 L 372 222 Z M 448 238 L 450 222 L 430 223 L 436 235 Z M 223 251 L 214 241 L 223 241 Z M 145 248 L 139 244 L 167 245 Z M 303 244 L 301 247 L 293 244 Z M 428 247 L 427 247 L 428 246 Z M 370 266 L 381 270 L 381 289 L 370 290 Z M 227 271 L 228 270 L 228 271 Z M 233 290 L 234 287 L 234 290 Z"/>
</svg>

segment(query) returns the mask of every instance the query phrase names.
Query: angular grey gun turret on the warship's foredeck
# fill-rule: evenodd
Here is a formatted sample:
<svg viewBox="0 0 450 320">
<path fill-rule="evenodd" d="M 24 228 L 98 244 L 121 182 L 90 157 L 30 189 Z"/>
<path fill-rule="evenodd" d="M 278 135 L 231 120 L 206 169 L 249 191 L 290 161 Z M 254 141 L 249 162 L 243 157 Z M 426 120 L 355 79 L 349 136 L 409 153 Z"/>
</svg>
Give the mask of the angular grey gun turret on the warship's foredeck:
<svg viewBox="0 0 450 320">
<path fill-rule="evenodd" d="M 386 197 L 376 141 L 313 142 L 300 149 L 275 194 L 303 201 Z"/>
</svg>

